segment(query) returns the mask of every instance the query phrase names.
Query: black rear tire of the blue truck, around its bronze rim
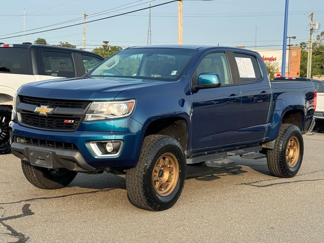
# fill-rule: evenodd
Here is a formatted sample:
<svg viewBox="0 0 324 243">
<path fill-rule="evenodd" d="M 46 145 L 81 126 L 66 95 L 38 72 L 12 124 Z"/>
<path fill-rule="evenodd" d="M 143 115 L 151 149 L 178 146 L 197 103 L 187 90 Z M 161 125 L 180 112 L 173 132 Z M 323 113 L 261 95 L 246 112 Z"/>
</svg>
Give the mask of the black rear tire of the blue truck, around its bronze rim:
<svg viewBox="0 0 324 243">
<path fill-rule="evenodd" d="M 287 161 L 287 146 L 289 141 L 294 138 L 299 143 L 298 159 L 296 164 L 291 167 Z M 273 176 L 290 178 L 294 177 L 302 164 L 304 154 L 303 137 L 299 128 L 292 124 L 282 124 L 279 129 L 278 137 L 274 143 L 274 149 L 267 150 L 267 164 Z"/>
</svg>

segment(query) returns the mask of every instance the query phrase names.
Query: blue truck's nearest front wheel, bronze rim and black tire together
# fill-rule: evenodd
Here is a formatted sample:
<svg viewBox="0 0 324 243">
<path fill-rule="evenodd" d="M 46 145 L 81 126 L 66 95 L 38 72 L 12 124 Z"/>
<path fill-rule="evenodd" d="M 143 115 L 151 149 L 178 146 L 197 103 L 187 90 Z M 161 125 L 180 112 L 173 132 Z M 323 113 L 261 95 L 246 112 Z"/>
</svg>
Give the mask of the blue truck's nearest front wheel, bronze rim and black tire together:
<svg viewBox="0 0 324 243">
<path fill-rule="evenodd" d="M 136 167 L 126 171 L 128 198 L 141 209 L 169 209 L 178 200 L 185 177 L 186 159 L 179 142 L 164 135 L 147 136 Z"/>
</svg>

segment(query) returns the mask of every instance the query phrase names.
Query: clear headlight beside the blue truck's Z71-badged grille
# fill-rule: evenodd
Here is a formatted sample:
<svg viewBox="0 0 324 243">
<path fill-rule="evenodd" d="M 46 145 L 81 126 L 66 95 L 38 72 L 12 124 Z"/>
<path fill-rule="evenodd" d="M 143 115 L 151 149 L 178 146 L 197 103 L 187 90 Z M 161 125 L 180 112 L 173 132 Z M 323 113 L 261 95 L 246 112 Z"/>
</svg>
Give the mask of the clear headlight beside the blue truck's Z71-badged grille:
<svg viewBox="0 0 324 243">
<path fill-rule="evenodd" d="M 135 100 L 93 102 L 86 114 L 85 120 L 104 120 L 120 118 L 132 113 Z"/>
</svg>

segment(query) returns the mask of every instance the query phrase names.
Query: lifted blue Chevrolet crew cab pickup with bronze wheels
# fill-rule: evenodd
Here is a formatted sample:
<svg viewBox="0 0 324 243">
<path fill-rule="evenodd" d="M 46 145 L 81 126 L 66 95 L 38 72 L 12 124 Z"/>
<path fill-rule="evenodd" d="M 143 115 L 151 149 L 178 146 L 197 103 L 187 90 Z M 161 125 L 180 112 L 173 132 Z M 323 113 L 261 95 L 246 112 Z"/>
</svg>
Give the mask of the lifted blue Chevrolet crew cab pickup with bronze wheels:
<svg viewBox="0 0 324 243">
<path fill-rule="evenodd" d="M 270 82 L 244 49 L 151 46 L 122 50 L 79 78 L 23 85 L 13 106 L 12 152 L 26 179 L 58 189 L 80 173 L 126 173 L 134 206 L 172 207 L 187 164 L 267 158 L 297 174 L 312 130 L 311 82 Z"/>
</svg>

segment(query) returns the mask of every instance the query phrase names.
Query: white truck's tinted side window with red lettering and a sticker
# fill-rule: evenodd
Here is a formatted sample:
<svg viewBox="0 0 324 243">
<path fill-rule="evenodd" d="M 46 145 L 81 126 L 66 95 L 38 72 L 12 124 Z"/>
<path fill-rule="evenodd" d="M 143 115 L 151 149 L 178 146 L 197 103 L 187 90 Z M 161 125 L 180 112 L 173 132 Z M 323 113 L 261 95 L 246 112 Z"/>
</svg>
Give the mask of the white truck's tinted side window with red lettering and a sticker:
<svg viewBox="0 0 324 243">
<path fill-rule="evenodd" d="M 43 52 L 43 68 L 41 74 L 58 77 L 75 77 L 71 53 Z"/>
</svg>

